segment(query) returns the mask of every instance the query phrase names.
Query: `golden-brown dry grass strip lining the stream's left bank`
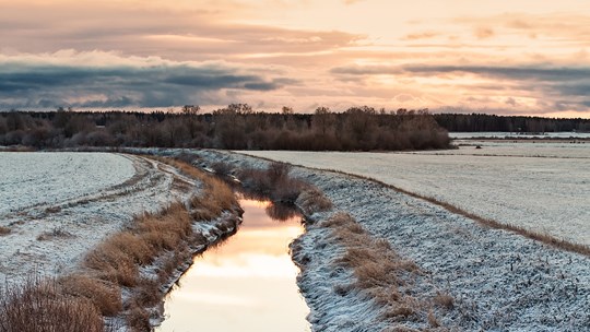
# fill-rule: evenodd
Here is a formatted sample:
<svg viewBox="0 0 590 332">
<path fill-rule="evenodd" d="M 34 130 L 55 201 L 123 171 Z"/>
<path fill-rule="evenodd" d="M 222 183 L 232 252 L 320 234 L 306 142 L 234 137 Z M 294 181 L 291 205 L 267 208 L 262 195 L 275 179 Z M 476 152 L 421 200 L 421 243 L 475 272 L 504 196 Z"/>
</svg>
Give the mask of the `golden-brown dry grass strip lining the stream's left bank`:
<svg viewBox="0 0 590 332">
<path fill-rule="evenodd" d="M 190 202 L 192 213 L 189 206 L 177 202 L 158 213 L 134 217 L 126 229 L 106 238 L 86 254 L 83 266 L 88 271 L 87 276 L 70 276 L 63 281 L 69 294 L 87 298 L 103 315 L 125 311 L 128 327 L 133 331 L 150 330 L 146 308 L 161 300 L 164 295 L 161 285 L 192 258 L 191 246 L 209 245 L 204 236 L 193 233 L 192 223 L 219 217 L 223 211 L 237 206 L 233 191 L 223 181 L 185 162 L 157 159 L 202 181 L 202 193 Z M 221 228 L 236 227 L 235 221 L 232 225 L 225 222 Z M 157 278 L 142 277 L 140 268 L 152 264 L 156 258 Z M 122 287 L 130 290 L 130 296 L 121 304 Z"/>
</svg>

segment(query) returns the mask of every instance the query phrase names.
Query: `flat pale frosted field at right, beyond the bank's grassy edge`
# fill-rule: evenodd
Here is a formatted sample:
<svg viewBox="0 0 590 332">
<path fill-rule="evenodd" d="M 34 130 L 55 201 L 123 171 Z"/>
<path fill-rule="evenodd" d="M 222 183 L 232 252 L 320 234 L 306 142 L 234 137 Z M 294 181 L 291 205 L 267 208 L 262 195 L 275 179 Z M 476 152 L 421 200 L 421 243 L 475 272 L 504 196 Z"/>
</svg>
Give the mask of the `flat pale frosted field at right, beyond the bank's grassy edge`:
<svg viewBox="0 0 590 332">
<path fill-rule="evenodd" d="M 500 223 L 590 245 L 590 144 L 486 143 L 446 152 L 247 154 L 378 179 Z"/>
</svg>

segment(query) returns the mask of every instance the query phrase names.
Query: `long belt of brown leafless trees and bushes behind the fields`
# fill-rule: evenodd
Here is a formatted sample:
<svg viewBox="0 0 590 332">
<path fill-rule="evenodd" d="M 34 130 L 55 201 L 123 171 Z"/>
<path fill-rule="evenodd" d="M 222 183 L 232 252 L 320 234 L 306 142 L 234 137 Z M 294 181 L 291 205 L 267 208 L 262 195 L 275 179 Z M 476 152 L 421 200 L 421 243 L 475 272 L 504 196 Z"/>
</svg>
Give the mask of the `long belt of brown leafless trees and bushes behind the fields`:
<svg viewBox="0 0 590 332">
<path fill-rule="evenodd" d="M 400 151 L 446 149 L 448 132 L 427 110 L 353 107 L 314 114 L 255 112 L 232 104 L 210 114 L 180 111 L 0 112 L 0 145 L 212 147 L 227 150 Z"/>
</svg>

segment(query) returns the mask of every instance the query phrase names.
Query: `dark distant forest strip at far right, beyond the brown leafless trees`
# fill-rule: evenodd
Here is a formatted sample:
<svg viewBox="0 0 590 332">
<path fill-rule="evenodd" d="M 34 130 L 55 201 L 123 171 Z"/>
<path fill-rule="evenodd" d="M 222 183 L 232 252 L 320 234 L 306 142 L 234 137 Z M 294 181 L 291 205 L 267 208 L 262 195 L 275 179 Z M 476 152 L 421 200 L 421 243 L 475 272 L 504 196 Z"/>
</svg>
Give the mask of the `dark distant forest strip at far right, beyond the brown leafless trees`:
<svg viewBox="0 0 590 332">
<path fill-rule="evenodd" d="M 503 117 L 483 114 L 438 114 L 434 118 L 451 132 L 590 132 L 590 119 L 551 119 L 540 117 Z"/>
</svg>

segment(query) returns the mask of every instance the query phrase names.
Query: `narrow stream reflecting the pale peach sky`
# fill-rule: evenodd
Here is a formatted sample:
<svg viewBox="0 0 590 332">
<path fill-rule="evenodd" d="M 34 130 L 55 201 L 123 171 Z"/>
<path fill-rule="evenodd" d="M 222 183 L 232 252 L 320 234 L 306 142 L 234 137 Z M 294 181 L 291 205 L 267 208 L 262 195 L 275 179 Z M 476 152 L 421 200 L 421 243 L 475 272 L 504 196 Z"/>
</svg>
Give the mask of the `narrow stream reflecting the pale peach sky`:
<svg viewBox="0 0 590 332">
<path fill-rule="evenodd" d="M 194 258 L 164 303 L 155 331 L 310 331 L 309 309 L 298 293 L 288 244 L 304 228 L 270 202 L 239 201 L 244 222 L 236 235 Z"/>
</svg>

